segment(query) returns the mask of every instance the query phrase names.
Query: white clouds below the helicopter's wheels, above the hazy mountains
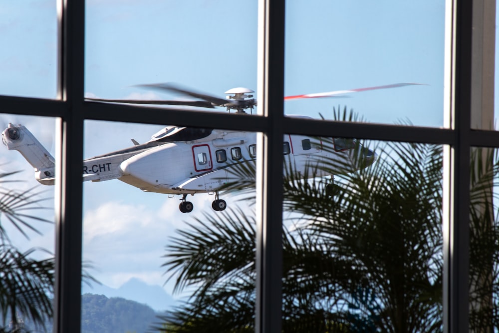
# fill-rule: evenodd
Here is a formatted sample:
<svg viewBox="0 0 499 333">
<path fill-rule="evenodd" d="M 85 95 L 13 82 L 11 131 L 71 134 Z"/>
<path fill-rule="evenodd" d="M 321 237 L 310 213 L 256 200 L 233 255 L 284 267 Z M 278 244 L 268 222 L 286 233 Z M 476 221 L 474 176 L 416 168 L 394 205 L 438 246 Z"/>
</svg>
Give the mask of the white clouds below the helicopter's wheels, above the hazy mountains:
<svg viewBox="0 0 499 333">
<path fill-rule="evenodd" d="M 188 196 L 194 204 L 194 211 L 189 214 L 179 211 L 179 196 L 168 198 L 162 194 L 136 192 L 133 197 L 121 197 L 122 200 L 110 200 L 86 210 L 83 258 L 94 267 L 89 273 L 113 288 L 130 278 L 163 285 L 168 277 L 161 265 L 166 261 L 163 256 L 170 237 L 175 236 L 175 230 L 185 229 L 186 222 L 203 219 L 203 212 L 213 212 L 214 196 Z M 160 205 L 158 198 L 162 200 Z M 225 199 L 229 205 L 236 206 L 233 197 Z M 170 292 L 172 284 L 166 287 Z"/>
</svg>

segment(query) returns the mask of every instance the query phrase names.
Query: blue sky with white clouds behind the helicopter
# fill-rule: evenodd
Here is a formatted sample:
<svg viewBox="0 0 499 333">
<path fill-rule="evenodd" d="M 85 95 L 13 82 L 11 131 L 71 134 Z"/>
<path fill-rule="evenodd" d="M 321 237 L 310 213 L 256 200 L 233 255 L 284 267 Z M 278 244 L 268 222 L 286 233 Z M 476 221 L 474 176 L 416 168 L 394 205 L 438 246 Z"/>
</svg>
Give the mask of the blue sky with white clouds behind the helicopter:
<svg viewBox="0 0 499 333">
<path fill-rule="evenodd" d="M 421 85 L 287 101 L 285 113 L 331 119 L 333 108 L 347 107 L 371 122 L 443 126 L 444 14 L 443 0 L 287 1 L 286 95 L 399 82 Z M 86 96 L 179 98 L 136 86 L 157 82 L 176 82 L 222 98 L 234 87 L 257 90 L 255 0 L 87 0 L 85 23 Z M 56 37 L 55 1 L 0 0 L 0 94 L 55 97 Z M 25 125 L 54 153 L 53 118 L 0 115 L 1 127 L 9 122 Z M 86 121 L 84 155 L 131 146 L 132 138 L 146 142 L 159 129 Z M 0 171 L 12 170 L 22 170 L 19 177 L 25 182 L 19 186 L 36 185 L 20 154 L 0 147 Z M 44 196 L 53 196 L 52 187 L 43 190 Z M 223 198 L 229 207 L 242 204 L 235 197 Z M 94 266 L 90 273 L 113 288 L 132 277 L 163 285 L 161 256 L 168 237 L 211 212 L 213 199 L 189 197 L 195 206 L 189 215 L 179 212 L 179 197 L 143 193 L 117 180 L 86 182 L 83 259 Z M 40 229 L 44 235 L 30 234 L 29 242 L 15 231 L 12 239 L 53 249 L 53 227 Z M 171 292 L 171 287 L 165 289 Z"/>
</svg>

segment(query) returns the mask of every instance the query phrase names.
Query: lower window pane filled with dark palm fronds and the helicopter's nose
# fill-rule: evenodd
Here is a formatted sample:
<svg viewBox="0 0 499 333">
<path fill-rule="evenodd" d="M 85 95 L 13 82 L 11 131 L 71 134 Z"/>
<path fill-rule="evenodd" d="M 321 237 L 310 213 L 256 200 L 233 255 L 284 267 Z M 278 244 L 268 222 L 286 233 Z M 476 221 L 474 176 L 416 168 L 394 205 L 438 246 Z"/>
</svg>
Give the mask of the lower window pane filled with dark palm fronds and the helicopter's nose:
<svg viewBox="0 0 499 333">
<path fill-rule="evenodd" d="M 282 331 L 441 332 L 442 146 L 310 140 L 284 159 Z"/>
</svg>

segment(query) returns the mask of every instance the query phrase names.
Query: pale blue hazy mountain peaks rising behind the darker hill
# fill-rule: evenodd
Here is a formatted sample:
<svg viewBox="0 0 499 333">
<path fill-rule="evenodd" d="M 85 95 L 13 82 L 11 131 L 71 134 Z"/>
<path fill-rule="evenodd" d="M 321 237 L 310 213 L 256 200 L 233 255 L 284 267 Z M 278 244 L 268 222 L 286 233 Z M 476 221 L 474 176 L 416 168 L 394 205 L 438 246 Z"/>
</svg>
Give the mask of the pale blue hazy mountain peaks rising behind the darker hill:
<svg viewBox="0 0 499 333">
<path fill-rule="evenodd" d="M 155 311 L 165 311 L 177 305 L 178 301 L 168 294 L 161 286 L 149 285 L 144 281 L 132 278 L 118 289 L 105 285 L 94 284 L 89 287 L 83 284 L 81 294 L 105 295 L 108 298 L 120 297 L 146 304 Z"/>
</svg>

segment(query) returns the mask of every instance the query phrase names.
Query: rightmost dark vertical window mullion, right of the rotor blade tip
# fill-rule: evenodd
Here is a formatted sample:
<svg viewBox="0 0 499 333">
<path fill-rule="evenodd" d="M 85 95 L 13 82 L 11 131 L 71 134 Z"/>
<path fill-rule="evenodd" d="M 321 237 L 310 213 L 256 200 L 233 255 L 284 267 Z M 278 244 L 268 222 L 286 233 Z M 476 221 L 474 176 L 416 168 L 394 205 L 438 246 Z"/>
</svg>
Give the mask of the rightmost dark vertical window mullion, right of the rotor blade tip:
<svg viewBox="0 0 499 333">
<path fill-rule="evenodd" d="M 469 332 L 470 132 L 472 93 L 473 1 L 457 0 L 449 244 L 449 312 L 447 332 Z"/>
</svg>

